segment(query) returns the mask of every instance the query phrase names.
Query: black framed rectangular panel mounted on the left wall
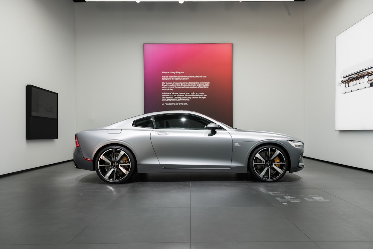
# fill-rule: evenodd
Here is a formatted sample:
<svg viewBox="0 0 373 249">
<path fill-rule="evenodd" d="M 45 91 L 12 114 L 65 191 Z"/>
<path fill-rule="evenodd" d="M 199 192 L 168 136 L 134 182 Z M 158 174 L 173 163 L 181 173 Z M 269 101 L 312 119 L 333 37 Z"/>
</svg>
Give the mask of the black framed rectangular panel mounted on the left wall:
<svg viewBox="0 0 373 249">
<path fill-rule="evenodd" d="M 26 139 L 58 138 L 58 94 L 26 85 Z"/>
</svg>

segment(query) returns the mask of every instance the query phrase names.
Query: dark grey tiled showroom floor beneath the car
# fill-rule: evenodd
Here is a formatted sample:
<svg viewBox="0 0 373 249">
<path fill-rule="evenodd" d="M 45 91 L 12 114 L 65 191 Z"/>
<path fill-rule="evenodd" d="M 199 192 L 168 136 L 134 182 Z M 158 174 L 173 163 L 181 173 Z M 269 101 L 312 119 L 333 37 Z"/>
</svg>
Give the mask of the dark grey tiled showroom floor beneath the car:
<svg viewBox="0 0 373 249">
<path fill-rule="evenodd" d="M 373 173 L 311 159 L 276 183 L 72 162 L 0 178 L 0 249 L 372 249 Z"/>
</svg>

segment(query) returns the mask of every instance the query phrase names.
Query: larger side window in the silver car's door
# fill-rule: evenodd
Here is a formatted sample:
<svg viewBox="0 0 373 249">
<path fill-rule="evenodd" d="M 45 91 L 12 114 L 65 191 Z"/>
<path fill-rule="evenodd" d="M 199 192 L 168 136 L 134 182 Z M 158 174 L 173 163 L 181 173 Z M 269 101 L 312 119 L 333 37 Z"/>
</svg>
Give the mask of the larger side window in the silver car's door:
<svg viewBox="0 0 373 249">
<path fill-rule="evenodd" d="M 166 114 L 154 116 L 156 128 L 166 129 L 207 129 L 211 121 L 190 114 Z"/>
</svg>

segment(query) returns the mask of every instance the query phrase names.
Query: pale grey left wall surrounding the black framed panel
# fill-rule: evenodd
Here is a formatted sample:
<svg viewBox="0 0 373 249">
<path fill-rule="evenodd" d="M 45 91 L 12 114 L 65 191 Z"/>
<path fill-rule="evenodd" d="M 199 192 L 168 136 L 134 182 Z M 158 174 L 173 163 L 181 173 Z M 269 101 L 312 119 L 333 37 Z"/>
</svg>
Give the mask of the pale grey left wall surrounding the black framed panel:
<svg viewBox="0 0 373 249">
<path fill-rule="evenodd" d="M 1 1 L 0 175 L 72 159 L 75 10 L 66 0 Z M 26 85 L 58 93 L 58 139 L 26 141 Z"/>
</svg>

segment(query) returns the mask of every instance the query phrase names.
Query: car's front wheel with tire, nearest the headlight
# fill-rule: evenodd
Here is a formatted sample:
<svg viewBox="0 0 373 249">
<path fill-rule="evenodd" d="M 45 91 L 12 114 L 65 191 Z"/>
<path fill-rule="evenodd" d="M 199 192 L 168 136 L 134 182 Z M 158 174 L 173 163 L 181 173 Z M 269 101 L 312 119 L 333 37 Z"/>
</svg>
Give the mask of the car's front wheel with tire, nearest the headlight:
<svg viewBox="0 0 373 249">
<path fill-rule="evenodd" d="M 248 162 L 250 174 L 260 181 L 280 180 L 288 169 L 289 160 L 283 149 L 268 144 L 254 150 Z"/>
</svg>

